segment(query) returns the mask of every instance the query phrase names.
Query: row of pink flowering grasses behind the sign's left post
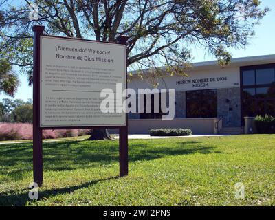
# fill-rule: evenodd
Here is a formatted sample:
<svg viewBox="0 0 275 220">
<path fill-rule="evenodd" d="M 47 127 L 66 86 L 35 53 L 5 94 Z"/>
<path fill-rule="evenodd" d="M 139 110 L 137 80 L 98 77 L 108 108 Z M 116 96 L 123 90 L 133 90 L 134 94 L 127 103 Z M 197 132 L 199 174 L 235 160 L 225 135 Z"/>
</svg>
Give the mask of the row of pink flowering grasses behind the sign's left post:
<svg viewBox="0 0 275 220">
<path fill-rule="evenodd" d="M 43 139 L 89 135 L 89 129 L 43 130 Z M 0 140 L 31 140 L 32 124 L 1 123 Z"/>
</svg>

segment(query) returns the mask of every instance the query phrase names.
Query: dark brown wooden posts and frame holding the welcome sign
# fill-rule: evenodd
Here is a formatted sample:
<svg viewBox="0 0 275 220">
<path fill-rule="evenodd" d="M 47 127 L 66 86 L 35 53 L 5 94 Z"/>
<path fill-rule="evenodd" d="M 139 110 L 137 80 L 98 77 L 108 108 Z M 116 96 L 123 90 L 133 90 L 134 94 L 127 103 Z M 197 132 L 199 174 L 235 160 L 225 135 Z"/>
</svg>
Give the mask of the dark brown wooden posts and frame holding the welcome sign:
<svg viewBox="0 0 275 220">
<path fill-rule="evenodd" d="M 128 175 L 128 118 L 126 116 L 126 122 L 120 126 L 116 125 L 106 125 L 104 124 L 101 126 L 94 126 L 91 124 L 86 124 L 85 126 L 79 126 L 78 124 L 69 124 L 66 126 L 61 124 L 59 126 L 41 126 L 41 66 L 42 66 L 42 59 L 41 58 L 41 37 L 43 35 L 44 26 L 35 25 L 32 30 L 34 31 L 34 71 L 33 71 L 33 173 L 34 173 L 34 182 L 39 186 L 43 184 L 43 144 L 42 144 L 42 131 L 43 129 L 119 129 L 119 162 L 120 162 L 120 177 Z M 106 46 L 106 42 L 100 41 L 89 41 L 84 39 L 72 39 L 72 38 L 65 38 L 65 37 L 58 37 L 58 36 L 50 36 L 54 39 L 65 39 L 67 41 L 86 41 L 86 42 L 94 42 L 97 45 L 100 43 Z M 120 36 L 118 38 L 117 45 L 126 45 L 126 41 L 128 37 Z M 109 43 L 109 45 L 114 45 L 115 43 Z M 126 47 L 125 54 L 126 54 Z M 125 73 L 126 73 L 126 57 L 124 61 L 125 65 Z M 125 76 L 126 78 L 126 76 Z M 126 87 L 126 80 L 124 83 Z M 61 90 L 62 91 L 62 90 Z M 65 91 L 65 90 L 63 90 Z M 125 120 L 124 120 L 125 121 Z"/>
</svg>

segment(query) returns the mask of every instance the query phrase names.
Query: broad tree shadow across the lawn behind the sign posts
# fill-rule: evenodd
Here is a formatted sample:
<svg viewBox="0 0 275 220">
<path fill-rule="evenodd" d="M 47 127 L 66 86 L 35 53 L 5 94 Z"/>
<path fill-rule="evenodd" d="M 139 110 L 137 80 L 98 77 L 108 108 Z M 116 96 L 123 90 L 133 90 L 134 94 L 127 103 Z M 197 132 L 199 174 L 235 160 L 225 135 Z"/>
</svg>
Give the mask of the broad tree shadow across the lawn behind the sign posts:
<svg viewBox="0 0 275 220">
<path fill-rule="evenodd" d="M 201 142 L 178 140 L 167 146 L 162 141 L 129 142 L 129 162 L 152 160 L 173 155 L 193 153 L 220 153 L 212 146 Z M 43 144 L 44 171 L 76 170 L 104 164 L 118 163 L 118 141 L 67 141 Z M 26 172 L 32 172 L 32 144 L 0 146 L 0 175 L 9 179 L 23 179 Z"/>
</svg>

